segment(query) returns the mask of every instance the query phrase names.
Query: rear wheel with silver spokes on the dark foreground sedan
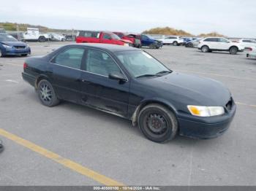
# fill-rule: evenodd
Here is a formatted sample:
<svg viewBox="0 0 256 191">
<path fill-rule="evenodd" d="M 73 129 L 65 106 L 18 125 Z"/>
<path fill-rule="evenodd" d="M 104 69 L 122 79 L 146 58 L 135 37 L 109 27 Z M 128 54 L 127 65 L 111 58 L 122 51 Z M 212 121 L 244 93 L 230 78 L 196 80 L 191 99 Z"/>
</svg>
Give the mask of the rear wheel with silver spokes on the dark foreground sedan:
<svg viewBox="0 0 256 191">
<path fill-rule="evenodd" d="M 46 79 L 39 81 L 37 95 L 41 103 L 45 106 L 56 106 L 59 104 L 59 98 L 57 98 L 53 86 Z"/>
</svg>

